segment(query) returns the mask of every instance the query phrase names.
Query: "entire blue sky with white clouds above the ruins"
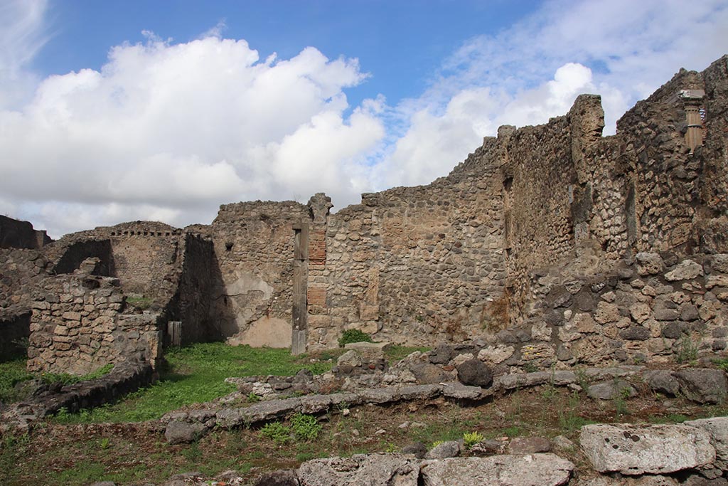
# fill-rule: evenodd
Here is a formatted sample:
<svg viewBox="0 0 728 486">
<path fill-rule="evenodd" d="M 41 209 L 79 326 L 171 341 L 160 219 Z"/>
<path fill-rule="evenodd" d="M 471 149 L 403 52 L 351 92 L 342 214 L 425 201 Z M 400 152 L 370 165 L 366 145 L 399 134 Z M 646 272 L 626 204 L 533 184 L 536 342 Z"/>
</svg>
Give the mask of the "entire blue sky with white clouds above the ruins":
<svg viewBox="0 0 728 486">
<path fill-rule="evenodd" d="M 728 52 L 728 0 L 0 0 L 0 213 L 53 238 L 338 211 Z"/>
</svg>

